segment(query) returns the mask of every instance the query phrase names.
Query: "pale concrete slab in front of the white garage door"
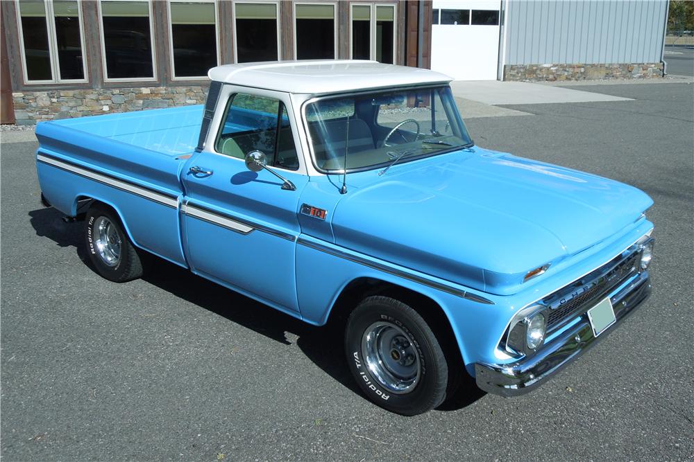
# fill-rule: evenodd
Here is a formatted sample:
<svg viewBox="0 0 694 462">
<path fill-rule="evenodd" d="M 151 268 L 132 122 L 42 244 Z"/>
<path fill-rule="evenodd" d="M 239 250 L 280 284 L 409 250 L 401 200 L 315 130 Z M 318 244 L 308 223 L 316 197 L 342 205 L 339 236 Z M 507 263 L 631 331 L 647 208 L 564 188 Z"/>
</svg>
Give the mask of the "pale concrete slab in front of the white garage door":
<svg viewBox="0 0 694 462">
<path fill-rule="evenodd" d="M 473 100 L 486 105 L 532 105 L 631 100 L 630 98 L 620 98 L 619 96 L 604 95 L 569 88 L 550 87 L 549 85 L 527 82 L 455 80 L 450 82 L 450 87 L 456 98 Z"/>
</svg>

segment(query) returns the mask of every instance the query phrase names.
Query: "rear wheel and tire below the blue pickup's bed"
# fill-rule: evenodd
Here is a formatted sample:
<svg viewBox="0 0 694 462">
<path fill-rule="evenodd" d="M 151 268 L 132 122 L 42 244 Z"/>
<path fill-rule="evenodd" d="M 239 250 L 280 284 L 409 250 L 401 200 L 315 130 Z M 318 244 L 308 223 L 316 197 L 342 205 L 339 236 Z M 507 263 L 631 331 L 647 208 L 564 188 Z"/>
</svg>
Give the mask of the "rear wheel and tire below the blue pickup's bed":
<svg viewBox="0 0 694 462">
<path fill-rule="evenodd" d="M 92 265 L 101 276 L 124 283 L 142 276 L 142 261 L 108 206 L 94 204 L 85 216 L 85 245 Z"/>
</svg>

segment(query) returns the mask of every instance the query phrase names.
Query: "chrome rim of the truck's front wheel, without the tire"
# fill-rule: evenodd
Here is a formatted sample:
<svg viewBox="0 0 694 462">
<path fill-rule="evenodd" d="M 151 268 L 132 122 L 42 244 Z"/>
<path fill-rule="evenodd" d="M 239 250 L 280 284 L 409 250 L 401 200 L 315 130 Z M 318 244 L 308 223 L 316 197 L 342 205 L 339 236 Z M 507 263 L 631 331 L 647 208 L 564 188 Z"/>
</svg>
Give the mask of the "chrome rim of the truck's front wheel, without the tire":
<svg viewBox="0 0 694 462">
<path fill-rule="evenodd" d="M 409 393 L 419 382 L 419 353 L 409 335 L 393 323 L 379 321 L 366 328 L 362 357 L 375 380 L 391 393 Z"/>
</svg>

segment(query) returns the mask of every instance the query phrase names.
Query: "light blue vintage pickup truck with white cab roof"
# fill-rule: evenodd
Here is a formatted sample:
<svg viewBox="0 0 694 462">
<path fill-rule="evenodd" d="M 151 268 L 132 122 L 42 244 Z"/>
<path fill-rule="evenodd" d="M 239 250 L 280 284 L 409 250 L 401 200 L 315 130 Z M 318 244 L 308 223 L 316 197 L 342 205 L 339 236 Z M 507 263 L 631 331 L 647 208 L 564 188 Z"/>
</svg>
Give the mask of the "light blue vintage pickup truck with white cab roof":
<svg viewBox="0 0 694 462">
<path fill-rule="evenodd" d="M 650 197 L 480 148 L 446 75 L 368 61 L 209 75 L 204 107 L 37 126 L 44 204 L 85 221 L 101 276 L 130 281 L 154 254 L 335 323 L 364 394 L 405 415 L 466 376 L 530 391 L 650 294 Z"/>
</svg>

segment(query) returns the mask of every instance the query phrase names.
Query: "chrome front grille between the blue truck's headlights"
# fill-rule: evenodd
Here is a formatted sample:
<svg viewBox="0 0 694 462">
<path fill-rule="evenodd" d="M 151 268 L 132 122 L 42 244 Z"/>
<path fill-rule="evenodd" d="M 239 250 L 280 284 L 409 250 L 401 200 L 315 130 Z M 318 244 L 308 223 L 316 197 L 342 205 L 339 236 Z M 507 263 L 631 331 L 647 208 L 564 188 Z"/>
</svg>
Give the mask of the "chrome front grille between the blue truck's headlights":
<svg viewBox="0 0 694 462">
<path fill-rule="evenodd" d="M 581 281 L 564 287 L 545 299 L 545 305 L 556 307 L 547 311 L 547 330 L 554 330 L 566 321 L 583 314 L 598 299 L 606 296 L 610 290 L 625 281 L 628 276 L 635 272 L 639 255 L 638 252 L 634 252 L 627 258 L 619 256 L 582 278 Z M 580 290 L 583 292 L 572 296 L 565 303 L 561 303 L 566 297 Z"/>
</svg>

